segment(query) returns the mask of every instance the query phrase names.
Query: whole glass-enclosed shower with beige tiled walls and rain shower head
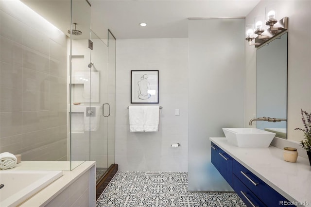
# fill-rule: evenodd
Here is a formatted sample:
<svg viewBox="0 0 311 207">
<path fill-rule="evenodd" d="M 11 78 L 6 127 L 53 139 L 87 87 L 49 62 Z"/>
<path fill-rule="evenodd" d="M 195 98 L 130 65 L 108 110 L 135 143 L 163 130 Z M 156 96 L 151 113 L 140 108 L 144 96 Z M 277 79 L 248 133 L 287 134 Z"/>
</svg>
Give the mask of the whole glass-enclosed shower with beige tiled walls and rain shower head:
<svg viewBox="0 0 311 207">
<path fill-rule="evenodd" d="M 115 37 L 87 0 L 0 0 L 0 15 L 0 153 L 96 161 L 99 183 L 115 166 Z"/>
</svg>

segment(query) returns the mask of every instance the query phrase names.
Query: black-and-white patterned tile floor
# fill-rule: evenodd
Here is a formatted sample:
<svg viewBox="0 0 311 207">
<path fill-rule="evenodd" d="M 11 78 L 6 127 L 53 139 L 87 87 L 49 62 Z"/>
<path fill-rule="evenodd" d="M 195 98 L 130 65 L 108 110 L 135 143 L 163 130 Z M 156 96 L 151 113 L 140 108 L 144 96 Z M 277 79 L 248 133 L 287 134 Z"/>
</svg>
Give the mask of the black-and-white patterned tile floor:
<svg viewBox="0 0 311 207">
<path fill-rule="evenodd" d="M 190 192 L 187 172 L 118 171 L 97 207 L 245 207 L 231 192 Z"/>
</svg>

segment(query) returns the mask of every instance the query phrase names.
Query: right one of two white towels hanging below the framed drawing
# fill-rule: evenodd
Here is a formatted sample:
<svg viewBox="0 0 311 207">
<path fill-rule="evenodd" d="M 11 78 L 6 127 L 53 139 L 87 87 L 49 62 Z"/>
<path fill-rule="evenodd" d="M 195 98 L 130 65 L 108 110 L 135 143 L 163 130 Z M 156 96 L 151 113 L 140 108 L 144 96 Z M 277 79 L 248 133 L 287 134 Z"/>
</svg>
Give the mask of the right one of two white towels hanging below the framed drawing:
<svg viewBox="0 0 311 207">
<path fill-rule="evenodd" d="M 157 132 L 159 130 L 159 106 L 144 106 L 144 131 Z"/>
</svg>

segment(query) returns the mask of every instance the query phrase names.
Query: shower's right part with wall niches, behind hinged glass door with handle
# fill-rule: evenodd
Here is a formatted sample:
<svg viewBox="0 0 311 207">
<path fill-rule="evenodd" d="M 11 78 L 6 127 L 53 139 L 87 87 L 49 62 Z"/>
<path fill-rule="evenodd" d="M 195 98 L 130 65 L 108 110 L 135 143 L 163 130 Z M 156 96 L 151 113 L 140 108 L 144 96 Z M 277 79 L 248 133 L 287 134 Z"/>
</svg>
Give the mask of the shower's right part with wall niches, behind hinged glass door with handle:
<svg viewBox="0 0 311 207">
<path fill-rule="evenodd" d="M 115 163 L 116 39 L 109 30 L 106 42 L 93 30 L 89 39 L 74 33 L 68 104 L 71 160 L 96 161 L 99 181 Z"/>
</svg>

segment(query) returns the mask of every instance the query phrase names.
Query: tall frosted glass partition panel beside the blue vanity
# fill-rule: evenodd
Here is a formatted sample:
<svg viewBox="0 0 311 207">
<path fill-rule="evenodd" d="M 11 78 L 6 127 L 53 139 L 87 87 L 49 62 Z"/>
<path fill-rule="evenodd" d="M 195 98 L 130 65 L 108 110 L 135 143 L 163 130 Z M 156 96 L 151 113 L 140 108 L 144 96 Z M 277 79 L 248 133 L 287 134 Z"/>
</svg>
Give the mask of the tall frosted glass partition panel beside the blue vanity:
<svg viewBox="0 0 311 207">
<path fill-rule="evenodd" d="M 243 127 L 243 31 L 244 19 L 189 20 L 189 190 L 232 190 L 210 162 L 209 137 Z"/>
</svg>

